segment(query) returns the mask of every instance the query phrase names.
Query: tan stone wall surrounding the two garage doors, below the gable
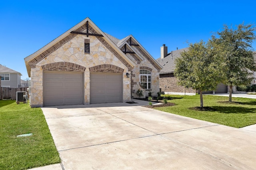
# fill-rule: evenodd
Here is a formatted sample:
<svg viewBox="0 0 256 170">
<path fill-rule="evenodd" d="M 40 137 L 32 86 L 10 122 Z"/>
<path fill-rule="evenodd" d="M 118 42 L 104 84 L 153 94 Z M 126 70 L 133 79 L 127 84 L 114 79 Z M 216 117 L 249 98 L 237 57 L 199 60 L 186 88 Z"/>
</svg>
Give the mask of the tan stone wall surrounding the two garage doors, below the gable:
<svg viewBox="0 0 256 170">
<path fill-rule="evenodd" d="M 84 53 L 84 39 L 90 39 L 90 54 Z M 31 106 L 43 106 L 43 65 L 68 62 L 83 66 L 84 72 L 84 104 L 90 103 L 90 70 L 94 66 L 111 64 L 118 68 L 123 68 L 123 102 L 131 100 L 130 81 L 126 77 L 128 68 L 104 45 L 97 37 L 86 35 L 76 35 L 70 41 L 62 45 L 59 49 L 48 55 L 31 68 Z M 70 66 L 69 66 L 70 67 Z M 71 68 L 70 68 L 71 69 Z M 106 69 L 104 69 L 106 70 Z M 44 70 L 47 71 L 47 70 Z M 74 70 L 75 71 L 75 70 Z M 113 71 L 113 69 L 110 69 Z M 120 70 L 119 70 L 120 71 Z M 130 73 L 130 72 L 129 72 Z"/>
</svg>

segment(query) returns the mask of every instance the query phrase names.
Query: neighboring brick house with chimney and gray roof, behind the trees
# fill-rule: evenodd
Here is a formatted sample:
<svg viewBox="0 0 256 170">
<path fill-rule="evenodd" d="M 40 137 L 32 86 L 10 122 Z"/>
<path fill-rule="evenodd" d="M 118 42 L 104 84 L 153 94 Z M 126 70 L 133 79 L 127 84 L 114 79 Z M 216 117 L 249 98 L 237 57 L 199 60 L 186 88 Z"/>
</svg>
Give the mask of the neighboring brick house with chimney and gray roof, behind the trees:
<svg viewBox="0 0 256 170">
<path fill-rule="evenodd" d="M 163 66 L 164 68 L 160 71 L 160 79 L 159 79 L 159 88 L 161 88 L 162 92 L 165 94 L 179 94 L 179 93 L 192 93 L 195 94 L 196 90 L 191 88 L 184 88 L 182 86 L 178 86 L 177 78 L 174 77 L 174 69 L 175 69 L 175 59 L 181 57 L 180 53 L 184 51 L 188 51 L 188 47 L 184 49 L 178 49 L 171 51 L 168 53 L 168 49 L 165 44 L 160 48 L 161 49 L 161 57 L 156 59 L 156 61 Z M 212 91 L 204 92 L 213 93 Z M 227 93 L 227 86 L 225 84 L 218 84 L 215 93 Z"/>
</svg>

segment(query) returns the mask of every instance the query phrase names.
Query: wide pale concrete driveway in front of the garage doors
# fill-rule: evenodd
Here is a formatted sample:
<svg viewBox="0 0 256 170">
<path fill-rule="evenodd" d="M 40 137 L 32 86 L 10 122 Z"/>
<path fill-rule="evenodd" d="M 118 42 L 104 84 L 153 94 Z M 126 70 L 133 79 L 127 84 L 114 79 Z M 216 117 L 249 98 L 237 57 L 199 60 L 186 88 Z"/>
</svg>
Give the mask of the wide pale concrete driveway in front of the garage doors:
<svg viewBox="0 0 256 170">
<path fill-rule="evenodd" d="M 134 105 L 43 107 L 59 169 L 256 169 L 256 132 Z"/>
</svg>

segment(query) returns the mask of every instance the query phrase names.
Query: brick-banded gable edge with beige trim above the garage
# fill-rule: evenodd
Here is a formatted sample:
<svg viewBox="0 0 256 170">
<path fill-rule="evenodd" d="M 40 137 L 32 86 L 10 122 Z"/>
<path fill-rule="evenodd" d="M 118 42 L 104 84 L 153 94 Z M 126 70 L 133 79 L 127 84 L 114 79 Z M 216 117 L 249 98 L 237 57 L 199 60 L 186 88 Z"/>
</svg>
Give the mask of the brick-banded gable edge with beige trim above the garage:
<svg viewBox="0 0 256 170">
<path fill-rule="evenodd" d="M 103 33 L 89 18 L 84 19 L 32 55 L 24 59 L 28 75 L 30 77 L 31 68 L 35 67 L 36 64 L 42 59 L 46 58 L 52 52 L 56 51 L 59 47 L 64 45 L 66 42 L 70 41 L 76 36 L 76 34 L 94 35 L 101 43 L 103 43 L 106 48 L 108 48 L 115 56 L 128 68 L 134 67 L 136 64 L 133 63 L 122 51 L 110 40 L 105 33 Z"/>
</svg>

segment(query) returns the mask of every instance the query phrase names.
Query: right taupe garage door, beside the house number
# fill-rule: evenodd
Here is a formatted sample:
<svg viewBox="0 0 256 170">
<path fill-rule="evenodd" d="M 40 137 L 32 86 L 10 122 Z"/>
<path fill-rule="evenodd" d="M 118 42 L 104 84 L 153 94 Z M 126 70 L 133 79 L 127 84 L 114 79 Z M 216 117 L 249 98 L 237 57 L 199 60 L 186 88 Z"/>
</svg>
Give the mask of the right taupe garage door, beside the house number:
<svg viewBox="0 0 256 170">
<path fill-rule="evenodd" d="M 90 104 L 122 102 L 122 74 L 91 73 Z"/>
</svg>

